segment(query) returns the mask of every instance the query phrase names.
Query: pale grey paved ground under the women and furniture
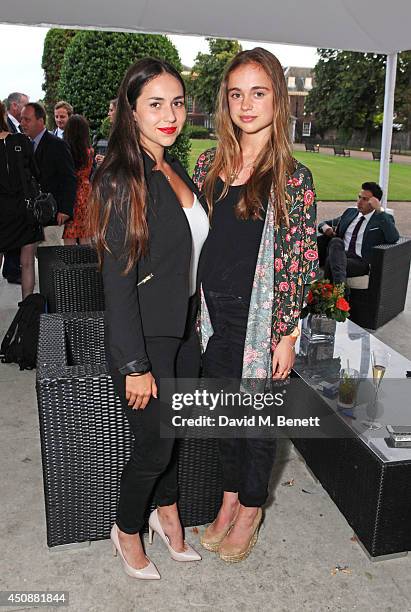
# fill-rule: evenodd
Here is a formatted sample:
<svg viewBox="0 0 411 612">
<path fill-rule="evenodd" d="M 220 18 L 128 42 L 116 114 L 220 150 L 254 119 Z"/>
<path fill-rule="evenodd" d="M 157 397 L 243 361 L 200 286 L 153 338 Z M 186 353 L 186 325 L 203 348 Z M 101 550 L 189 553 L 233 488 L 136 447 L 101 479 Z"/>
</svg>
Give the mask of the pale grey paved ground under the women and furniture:
<svg viewBox="0 0 411 612">
<path fill-rule="evenodd" d="M 319 208 L 320 217 L 331 211 L 325 203 Z M 0 337 L 18 299 L 18 288 L 1 280 Z M 377 336 L 411 358 L 410 330 L 409 295 L 406 311 Z M 122 572 L 108 541 L 50 551 L 34 381 L 34 372 L 0 364 L 0 590 L 68 590 L 75 612 L 411 611 L 411 556 L 370 562 L 288 443 L 280 447 L 259 542 L 241 564 L 225 565 L 206 551 L 200 564 L 178 564 L 157 538 L 149 553 L 162 580 L 144 583 Z M 281 486 L 292 478 L 294 486 Z M 193 530 L 187 536 L 198 540 Z M 336 565 L 351 573 L 333 576 Z"/>
</svg>

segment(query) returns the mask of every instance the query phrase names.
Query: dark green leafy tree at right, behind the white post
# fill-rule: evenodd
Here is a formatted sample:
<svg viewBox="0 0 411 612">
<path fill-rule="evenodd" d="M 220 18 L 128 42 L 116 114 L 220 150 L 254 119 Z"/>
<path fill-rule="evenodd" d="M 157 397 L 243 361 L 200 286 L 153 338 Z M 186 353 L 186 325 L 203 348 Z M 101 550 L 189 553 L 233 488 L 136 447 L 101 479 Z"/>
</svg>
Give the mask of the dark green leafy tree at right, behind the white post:
<svg viewBox="0 0 411 612">
<path fill-rule="evenodd" d="M 320 60 L 314 68 L 315 82 L 305 110 L 315 115 L 323 134 L 338 128 L 349 139 L 353 130 L 363 130 L 366 141 L 379 127 L 384 106 L 386 56 L 336 49 L 318 49 Z M 398 62 L 395 111 L 403 116 L 408 100 L 407 65 L 401 54 Z"/>
</svg>

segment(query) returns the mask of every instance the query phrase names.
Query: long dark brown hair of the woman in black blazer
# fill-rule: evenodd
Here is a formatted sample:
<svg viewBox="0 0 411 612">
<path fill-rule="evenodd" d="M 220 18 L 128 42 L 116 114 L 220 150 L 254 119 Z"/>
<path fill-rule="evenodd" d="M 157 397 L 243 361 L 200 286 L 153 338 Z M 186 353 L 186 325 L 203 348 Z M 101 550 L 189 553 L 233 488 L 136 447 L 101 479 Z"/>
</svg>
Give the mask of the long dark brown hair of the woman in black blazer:
<svg viewBox="0 0 411 612">
<path fill-rule="evenodd" d="M 145 58 L 126 72 L 118 92 L 118 102 L 107 154 L 96 172 L 90 199 L 90 230 L 101 265 L 104 251 L 109 251 L 106 236 L 112 210 L 126 227 L 123 256 L 127 274 L 147 252 L 147 188 L 144 179 L 140 131 L 133 110 L 143 87 L 161 74 L 175 77 L 183 88 L 180 73 L 168 62 Z"/>
</svg>

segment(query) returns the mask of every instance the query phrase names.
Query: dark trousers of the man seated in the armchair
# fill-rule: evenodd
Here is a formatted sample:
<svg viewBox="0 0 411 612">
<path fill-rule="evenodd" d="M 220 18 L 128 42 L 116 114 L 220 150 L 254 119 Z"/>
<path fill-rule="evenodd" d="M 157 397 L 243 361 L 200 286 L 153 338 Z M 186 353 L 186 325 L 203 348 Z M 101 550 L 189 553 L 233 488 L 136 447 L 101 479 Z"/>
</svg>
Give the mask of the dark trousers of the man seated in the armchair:
<svg viewBox="0 0 411 612">
<path fill-rule="evenodd" d="M 324 277 L 333 283 L 345 283 L 347 277 L 362 276 L 370 271 L 369 264 L 358 255 L 348 254 L 342 238 L 331 238 L 325 260 Z"/>
</svg>

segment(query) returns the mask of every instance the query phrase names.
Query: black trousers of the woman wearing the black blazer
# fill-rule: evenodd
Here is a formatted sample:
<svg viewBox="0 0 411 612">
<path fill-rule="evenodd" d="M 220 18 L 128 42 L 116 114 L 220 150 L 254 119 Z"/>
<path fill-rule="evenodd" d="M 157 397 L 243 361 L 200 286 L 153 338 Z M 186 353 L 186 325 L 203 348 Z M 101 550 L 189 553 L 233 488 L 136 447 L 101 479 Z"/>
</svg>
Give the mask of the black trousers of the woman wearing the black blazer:
<svg viewBox="0 0 411 612">
<path fill-rule="evenodd" d="M 194 329 L 197 297 L 190 300 L 184 338 L 146 337 L 152 374 L 160 387 L 161 378 L 195 378 L 200 370 L 200 344 Z M 108 354 L 110 363 L 110 356 Z M 145 521 L 153 491 L 159 506 L 177 502 L 177 456 L 173 430 L 160 437 L 162 413 L 170 407 L 151 397 L 144 410 L 133 410 L 125 398 L 125 377 L 110 368 L 115 389 L 134 435 L 134 447 L 120 481 L 116 523 L 125 533 L 138 533 Z"/>
</svg>

